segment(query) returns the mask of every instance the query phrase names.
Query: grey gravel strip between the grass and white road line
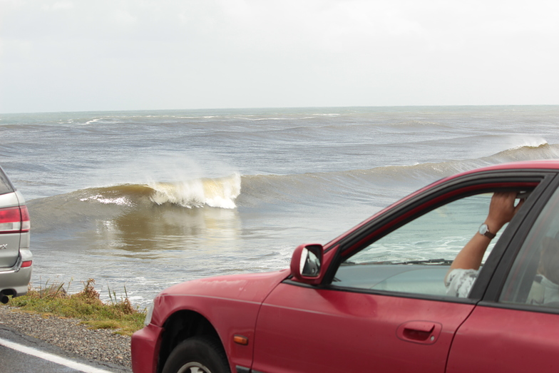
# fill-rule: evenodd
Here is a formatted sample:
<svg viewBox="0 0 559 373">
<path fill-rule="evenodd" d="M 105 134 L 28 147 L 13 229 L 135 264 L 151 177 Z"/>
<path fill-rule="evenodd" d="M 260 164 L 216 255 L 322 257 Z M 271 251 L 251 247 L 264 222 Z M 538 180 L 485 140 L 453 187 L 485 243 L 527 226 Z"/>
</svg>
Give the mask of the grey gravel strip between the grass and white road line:
<svg viewBox="0 0 559 373">
<path fill-rule="evenodd" d="M 88 329 L 79 320 L 27 313 L 17 307 L 0 306 L 0 325 L 11 327 L 70 354 L 108 362 L 131 372 L 130 337 L 111 329 Z"/>
</svg>

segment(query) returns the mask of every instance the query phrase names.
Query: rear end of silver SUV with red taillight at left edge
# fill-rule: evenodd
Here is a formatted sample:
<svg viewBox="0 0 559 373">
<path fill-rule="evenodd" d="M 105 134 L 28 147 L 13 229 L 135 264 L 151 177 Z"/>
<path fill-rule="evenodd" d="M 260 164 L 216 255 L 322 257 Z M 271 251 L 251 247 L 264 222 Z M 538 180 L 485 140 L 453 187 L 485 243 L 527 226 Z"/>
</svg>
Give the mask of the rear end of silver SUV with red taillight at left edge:
<svg viewBox="0 0 559 373">
<path fill-rule="evenodd" d="M 27 293 L 33 270 L 29 250 L 29 213 L 19 193 L 0 167 L 0 302 Z"/>
</svg>

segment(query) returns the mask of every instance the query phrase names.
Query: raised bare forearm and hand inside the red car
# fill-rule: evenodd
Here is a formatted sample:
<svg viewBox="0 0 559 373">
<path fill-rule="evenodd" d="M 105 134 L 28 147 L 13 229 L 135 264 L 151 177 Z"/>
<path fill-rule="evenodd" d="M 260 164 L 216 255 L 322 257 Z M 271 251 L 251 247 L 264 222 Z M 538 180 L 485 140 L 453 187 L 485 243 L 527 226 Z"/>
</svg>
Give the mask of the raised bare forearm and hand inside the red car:
<svg viewBox="0 0 559 373">
<path fill-rule="evenodd" d="M 503 228 L 503 225 L 511 221 L 523 203 L 523 200 L 520 200 L 520 203 L 515 207 L 515 199 L 516 192 L 498 192 L 493 194 L 489 205 L 489 213 L 485 220 L 489 232 L 496 234 Z M 483 254 L 485 254 L 489 246 L 489 242 L 491 242 L 491 238 L 476 233 L 466 246 L 458 252 L 448 272 L 456 268 L 478 270 L 481 266 L 481 260 L 483 260 Z"/>
</svg>

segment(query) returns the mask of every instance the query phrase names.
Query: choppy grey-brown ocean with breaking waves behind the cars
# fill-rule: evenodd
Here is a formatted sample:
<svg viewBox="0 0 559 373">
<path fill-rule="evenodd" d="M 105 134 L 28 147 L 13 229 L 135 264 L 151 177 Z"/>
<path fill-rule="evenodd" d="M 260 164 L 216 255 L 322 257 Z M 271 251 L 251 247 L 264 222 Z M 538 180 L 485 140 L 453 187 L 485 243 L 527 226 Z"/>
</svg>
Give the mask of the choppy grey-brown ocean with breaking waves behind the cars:
<svg viewBox="0 0 559 373">
<path fill-rule="evenodd" d="M 93 278 L 143 307 L 286 268 L 447 175 L 559 158 L 558 125 L 559 106 L 0 114 L 0 165 L 29 206 L 32 285 Z"/>
</svg>

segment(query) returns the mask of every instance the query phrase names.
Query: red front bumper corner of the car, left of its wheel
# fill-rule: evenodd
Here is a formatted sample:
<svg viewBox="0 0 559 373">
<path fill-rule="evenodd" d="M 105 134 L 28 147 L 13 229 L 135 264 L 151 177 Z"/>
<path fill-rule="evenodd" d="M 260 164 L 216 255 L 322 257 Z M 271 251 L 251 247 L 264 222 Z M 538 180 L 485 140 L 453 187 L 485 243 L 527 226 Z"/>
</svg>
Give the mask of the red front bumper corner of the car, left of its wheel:
<svg viewBox="0 0 559 373">
<path fill-rule="evenodd" d="M 161 345 L 162 327 L 153 324 L 132 335 L 132 371 L 134 373 L 155 373 Z"/>
</svg>

